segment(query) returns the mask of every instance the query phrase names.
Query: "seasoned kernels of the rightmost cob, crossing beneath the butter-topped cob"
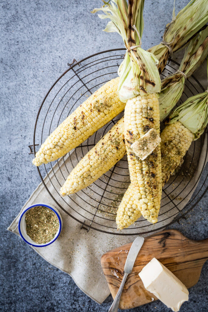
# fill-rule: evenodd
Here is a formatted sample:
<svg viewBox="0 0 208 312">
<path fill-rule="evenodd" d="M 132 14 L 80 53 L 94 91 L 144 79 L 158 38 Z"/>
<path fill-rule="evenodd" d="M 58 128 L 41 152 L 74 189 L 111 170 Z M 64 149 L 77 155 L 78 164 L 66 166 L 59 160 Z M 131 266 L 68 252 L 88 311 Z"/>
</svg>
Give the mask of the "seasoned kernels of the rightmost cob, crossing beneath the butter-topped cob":
<svg viewBox="0 0 208 312">
<path fill-rule="evenodd" d="M 170 135 L 172 133 L 172 135 Z M 175 171 L 179 163 L 181 162 L 183 156 L 186 154 L 189 149 L 191 142 L 194 139 L 194 135 L 190 130 L 185 128 L 180 122 L 175 124 L 168 124 L 161 133 L 161 168 L 162 168 L 162 187 L 168 181 L 172 173 Z M 171 138 L 170 138 L 171 137 Z M 131 194 L 131 201 L 129 197 Z M 116 217 L 116 224 L 118 229 L 122 230 L 124 227 L 128 227 L 133 224 L 137 219 L 134 217 L 133 222 L 125 223 L 126 220 L 126 211 L 125 207 L 127 204 L 130 205 L 128 211 L 131 211 L 134 215 L 135 210 L 141 211 L 141 204 L 137 199 L 138 195 L 135 196 L 134 186 L 130 184 L 126 193 L 123 196 L 123 199 L 119 205 Z M 133 202 L 133 204 L 132 204 Z M 152 213 L 153 203 L 148 202 L 150 206 L 150 213 Z M 128 215 L 129 216 L 129 215 Z"/>
</svg>

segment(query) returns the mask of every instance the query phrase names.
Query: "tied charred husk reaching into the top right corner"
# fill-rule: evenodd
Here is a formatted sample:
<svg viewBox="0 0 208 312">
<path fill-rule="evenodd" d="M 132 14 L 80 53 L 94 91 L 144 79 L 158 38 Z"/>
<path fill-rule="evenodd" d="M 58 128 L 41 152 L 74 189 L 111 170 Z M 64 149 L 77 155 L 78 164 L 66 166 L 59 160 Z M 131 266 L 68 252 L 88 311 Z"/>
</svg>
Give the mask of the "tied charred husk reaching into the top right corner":
<svg viewBox="0 0 208 312">
<path fill-rule="evenodd" d="M 163 41 L 171 47 L 172 52 L 183 48 L 188 40 L 190 40 L 201 27 L 208 22 L 208 1 L 193 0 L 184 7 L 177 16 L 175 16 L 175 8 L 173 9 L 172 22 L 166 25 L 163 35 Z M 162 63 L 166 64 L 168 50 L 167 46 L 160 43 L 149 49 L 159 60 L 159 72 Z"/>
</svg>

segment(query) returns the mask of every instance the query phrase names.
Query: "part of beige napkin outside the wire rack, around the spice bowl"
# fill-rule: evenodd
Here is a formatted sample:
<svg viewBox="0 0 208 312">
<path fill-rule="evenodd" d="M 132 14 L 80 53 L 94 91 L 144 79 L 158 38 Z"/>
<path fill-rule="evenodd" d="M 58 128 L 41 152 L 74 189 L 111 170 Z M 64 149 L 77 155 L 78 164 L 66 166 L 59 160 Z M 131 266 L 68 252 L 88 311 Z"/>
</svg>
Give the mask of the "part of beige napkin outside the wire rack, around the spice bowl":
<svg viewBox="0 0 208 312">
<path fill-rule="evenodd" d="M 56 170 L 57 165 L 53 168 Z M 54 178 L 55 179 L 55 178 Z M 44 179 L 51 186 L 48 177 Z M 133 241 L 135 236 L 114 236 L 90 229 L 80 229 L 81 224 L 61 211 L 40 183 L 31 197 L 22 207 L 8 230 L 17 234 L 18 221 L 22 212 L 35 203 L 45 202 L 56 207 L 63 220 L 63 228 L 58 239 L 46 247 L 32 247 L 46 261 L 68 273 L 76 285 L 91 299 L 101 304 L 110 294 L 101 268 L 101 256 L 110 249 Z M 65 207 L 67 209 L 67 207 Z"/>
</svg>

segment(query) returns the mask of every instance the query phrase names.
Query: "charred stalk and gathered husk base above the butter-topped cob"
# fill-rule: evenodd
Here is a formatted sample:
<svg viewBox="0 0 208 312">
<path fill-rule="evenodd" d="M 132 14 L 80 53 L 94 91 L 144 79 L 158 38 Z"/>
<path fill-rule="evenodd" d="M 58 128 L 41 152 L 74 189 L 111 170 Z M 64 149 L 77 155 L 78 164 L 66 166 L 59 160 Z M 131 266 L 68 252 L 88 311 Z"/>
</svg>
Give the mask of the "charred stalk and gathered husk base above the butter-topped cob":
<svg viewBox="0 0 208 312">
<path fill-rule="evenodd" d="M 122 66 L 118 86 L 119 97 L 124 101 L 139 94 L 160 92 L 161 87 L 157 58 L 141 48 L 142 33 L 135 27 L 137 20 L 135 12 L 142 15 L 143 3 L 144 0 L 132 0 L 128 5 L 128 55 L 126 53 L 124 64 L 126 62 L 130 71 L 126 76 L 126 71 L 123 71 L 124 65 Z M 135 9 L 136 7 L 139 7 L 138 11 Z M 128 90 L 128 94 L 126 90 Z"/>
</svg>

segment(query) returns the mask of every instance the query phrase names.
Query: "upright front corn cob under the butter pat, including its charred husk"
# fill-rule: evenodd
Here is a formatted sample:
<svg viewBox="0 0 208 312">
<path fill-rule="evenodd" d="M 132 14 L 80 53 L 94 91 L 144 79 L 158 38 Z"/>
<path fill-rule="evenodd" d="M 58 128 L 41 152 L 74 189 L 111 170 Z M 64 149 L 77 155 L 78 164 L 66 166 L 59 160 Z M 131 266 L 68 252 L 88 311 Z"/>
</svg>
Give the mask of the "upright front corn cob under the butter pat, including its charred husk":
<svg viewBox="0 0 208 312">
<path fill-rule="evenodd" d="M 140 7 L 142 11 L 143 4 L 143 0 L 132 0 L 128 4 L 128 57 L 131 71 L 128 78 L 126 78 L 125 71 L 121 73 L 120 81 L 123 82 L 123 85 L 120 82 L 119 85 L 121 85 L 120 90 L 122 91 L 122 89 L 125 90 L 126 85 L 130 87 L 133 82 L 132 92 L 127 95 L 123 94 L 122 97 L 127 100 L 124 110 L 124 138 L 130 180 L 134 186 L 133 194 L 141 204 L 143 217 L 149 222 L 156 223 L 162 196 L 160 144 L 143 160 L 137 157 L 131 149 L 131 145 L 150 129 L 155 129 L 157 135 L 160 135 L 157 92 L 160 92 L 161 81 L 156 66 L 158 61 L 153 54 L 140 47 L 143 23 L 138 25 L 134 14 L 137 7 Z M 141 21 L 143 22 L 142 19 Z M 139 29 L 135 25 L 139 26 Z M 131 80 L 129 80 L 130 77 Z M 122 92 L 118 91 L 118 95 L 120 94 Z M 137 94 L 139 95 L 135 97 Z M 130 95 L 132 96 L 130 97 Z M 121 99 L 120 96 L 119 98 Z M 144 146 L 141 148 L 143 148 L 141 152 L 144 154 Z"/>
</svg>

